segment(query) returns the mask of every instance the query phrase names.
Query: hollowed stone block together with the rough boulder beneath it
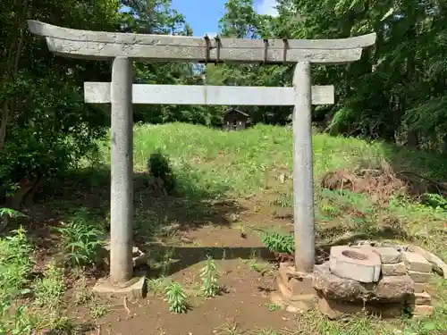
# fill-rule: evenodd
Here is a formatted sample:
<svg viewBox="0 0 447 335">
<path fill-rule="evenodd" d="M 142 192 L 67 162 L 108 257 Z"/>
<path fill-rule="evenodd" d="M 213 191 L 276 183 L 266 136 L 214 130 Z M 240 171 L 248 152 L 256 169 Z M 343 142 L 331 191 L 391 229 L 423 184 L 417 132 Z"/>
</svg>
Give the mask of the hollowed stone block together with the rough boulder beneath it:
<svg viewBox="0 0 447 335">
<path fill-rule="evenodd" d="M 407 273 L 402 274 L 399 254 L 382 253 L 375 253 L 372 247 L 333 247 L 329 262 L 316 265 L 314 271 L 320 312 L 331 319 L 360 312 L 399 317 L 413 295 L 414 283 Z M 381 277 L 382 257 L 389 264 L 398 264 L 395 275 Z"/>
</svg>

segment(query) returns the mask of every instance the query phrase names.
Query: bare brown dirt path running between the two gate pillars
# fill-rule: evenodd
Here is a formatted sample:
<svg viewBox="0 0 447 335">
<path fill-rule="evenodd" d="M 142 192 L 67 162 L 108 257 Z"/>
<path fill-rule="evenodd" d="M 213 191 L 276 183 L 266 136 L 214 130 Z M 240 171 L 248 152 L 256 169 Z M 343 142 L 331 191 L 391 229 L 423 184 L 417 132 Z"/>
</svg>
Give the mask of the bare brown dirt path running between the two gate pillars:
<svg viewBox="0 0 447 335">
<path fill-rule="evenodd" d="M 120 306 L 98 320 L 101 334 L 291 334 L 286 329 L 293 329 L 293 314 L 279 310 L 269 298 L 275 289 L 274 264 L 261 260 L 269 253 L 259 236 L 244 223 L 287 229 L 289 222 L 273 222 L 272 216 L 267 218 L 262 213 L 241 214 L 238 221 L 230 227 L 206 226 L 190 231 L 179 238 L 179 242 L 183 241 L 180 247 L 171 248 L 173 274 L 169 277 L 190 290 L 191 309 L 187 314 L 170 313 L 163 297 L 149 293 L 145 299 L 128 305 L 131 314 Z M 198 274 L 206 255 L 215 259 L 223 288 L 221 296 L 208 299 L 194 297 L 193 292 L 200 284 Z"/>
</svg>

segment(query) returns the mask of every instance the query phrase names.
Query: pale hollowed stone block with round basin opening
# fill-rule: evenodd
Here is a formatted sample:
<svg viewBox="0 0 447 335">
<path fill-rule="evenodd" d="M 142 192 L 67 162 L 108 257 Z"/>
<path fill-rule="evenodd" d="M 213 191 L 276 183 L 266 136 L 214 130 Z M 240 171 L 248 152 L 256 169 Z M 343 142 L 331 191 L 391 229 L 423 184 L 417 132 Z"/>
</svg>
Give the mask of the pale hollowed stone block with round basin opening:
<svg viewBox="0 0 447 335">
<path fill-rule="evenodd" d="M 331 247 L 329 266 L 339 277 L 360 282 L 376 282 L 381 272 L 380 256 L 369 248 Z"/>
</svg>

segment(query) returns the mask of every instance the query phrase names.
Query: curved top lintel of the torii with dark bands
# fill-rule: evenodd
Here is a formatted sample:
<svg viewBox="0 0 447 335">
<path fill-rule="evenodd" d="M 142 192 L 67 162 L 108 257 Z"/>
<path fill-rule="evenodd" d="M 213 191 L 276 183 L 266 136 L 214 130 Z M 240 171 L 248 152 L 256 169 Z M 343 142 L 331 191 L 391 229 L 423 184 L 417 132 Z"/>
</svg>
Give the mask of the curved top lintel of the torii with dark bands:
<svg viewBox="0 0 447 335">
<path fill-rule="evenodd" d="M 375 33 L 339 39 L 195 38 L 91 31 L 28 21 L 55 54 L 86 59 L 225 63 L 350 63 L 375 44 Z"/>
</svg>

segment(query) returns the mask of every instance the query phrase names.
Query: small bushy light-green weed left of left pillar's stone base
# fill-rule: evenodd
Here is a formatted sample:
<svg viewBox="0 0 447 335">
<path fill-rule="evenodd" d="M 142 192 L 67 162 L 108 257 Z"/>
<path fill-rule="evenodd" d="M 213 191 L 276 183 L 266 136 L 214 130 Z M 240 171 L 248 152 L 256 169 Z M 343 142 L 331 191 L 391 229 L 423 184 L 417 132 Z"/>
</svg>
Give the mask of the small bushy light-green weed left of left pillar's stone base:
<svg viewBox="0 0 447 335">
<path fill-rule="evenodd" d="M 44 277 L 38 279 L 32 285 L 34 301 L 37 306 L 46 306 L 53 309 L 59 305 L 59 298 L 63 295 L 63 289 L 65 289 L 63 272 L 54 263 L 50 263 L 46 267 Z"/>
</svg>

